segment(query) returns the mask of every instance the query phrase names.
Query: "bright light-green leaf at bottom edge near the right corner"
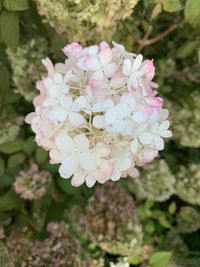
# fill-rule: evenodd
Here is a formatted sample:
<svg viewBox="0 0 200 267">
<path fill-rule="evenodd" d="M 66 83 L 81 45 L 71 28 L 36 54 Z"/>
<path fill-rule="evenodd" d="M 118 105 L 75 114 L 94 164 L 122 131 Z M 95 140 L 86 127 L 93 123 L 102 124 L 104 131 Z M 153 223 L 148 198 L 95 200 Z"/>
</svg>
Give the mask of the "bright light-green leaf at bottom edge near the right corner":
<svg viewBox="0 0 200 267">
<path fill-rule="evenodd" d="M 150 257 L 149 263 L 152 267 L 167 267 L 171 257 L 170 251 L 158 251 Z"/>
</svg>

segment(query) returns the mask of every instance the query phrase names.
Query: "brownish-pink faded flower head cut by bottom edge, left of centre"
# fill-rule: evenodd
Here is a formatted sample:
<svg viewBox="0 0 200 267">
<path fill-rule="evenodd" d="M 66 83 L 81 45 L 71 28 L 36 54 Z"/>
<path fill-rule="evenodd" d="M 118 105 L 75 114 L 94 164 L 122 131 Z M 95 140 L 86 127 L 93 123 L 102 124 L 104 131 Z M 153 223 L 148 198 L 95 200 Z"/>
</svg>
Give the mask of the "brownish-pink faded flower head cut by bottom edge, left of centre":
<svg viewBox="0 0 200 267">
<path fill-rule="evenodd" d="M 36 241 L 27 259 L 28 267 L 88 267 L 91 259 L 83 253 L 79 243 L 63 222 L 48 224 L 50 236 Z"/>
</svg>

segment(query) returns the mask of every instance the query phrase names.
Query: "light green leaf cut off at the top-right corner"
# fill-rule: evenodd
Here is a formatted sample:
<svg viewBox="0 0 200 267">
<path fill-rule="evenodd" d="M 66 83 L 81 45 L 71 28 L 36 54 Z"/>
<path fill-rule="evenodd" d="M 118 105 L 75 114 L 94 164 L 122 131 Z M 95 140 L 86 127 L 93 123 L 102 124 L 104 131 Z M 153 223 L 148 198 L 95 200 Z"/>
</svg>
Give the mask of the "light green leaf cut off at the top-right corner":
<svg viewBox="0 0 200 267">
<path fill-rule="evenodd" d="M 187 22 L 193 27 L 200 27 L 200 0 L 187 0 L 184 12 Z"/>
</svg>

